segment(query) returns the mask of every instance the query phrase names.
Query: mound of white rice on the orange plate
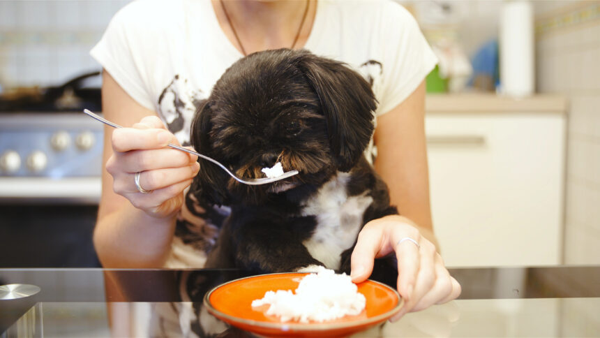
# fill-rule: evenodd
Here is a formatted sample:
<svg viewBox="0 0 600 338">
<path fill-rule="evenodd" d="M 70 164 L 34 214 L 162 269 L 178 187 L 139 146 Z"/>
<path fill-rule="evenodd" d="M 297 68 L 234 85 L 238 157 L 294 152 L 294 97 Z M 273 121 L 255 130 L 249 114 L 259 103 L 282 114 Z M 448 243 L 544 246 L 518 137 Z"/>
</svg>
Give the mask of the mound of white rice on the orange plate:
<svg viewBox="0 0 600 338">
<path fill-rule="evenodd" d="M 301 279 L 295 294 L 290 290 L 267 291 L 262 299 L 252 302 L 252 307 L 269 304 L 266 314 L 282 322 L 331 321 L 363 311 L 366 299 L 357 290 L 347 274 L 320 267 L 316 274 Z"/>
</svg>

